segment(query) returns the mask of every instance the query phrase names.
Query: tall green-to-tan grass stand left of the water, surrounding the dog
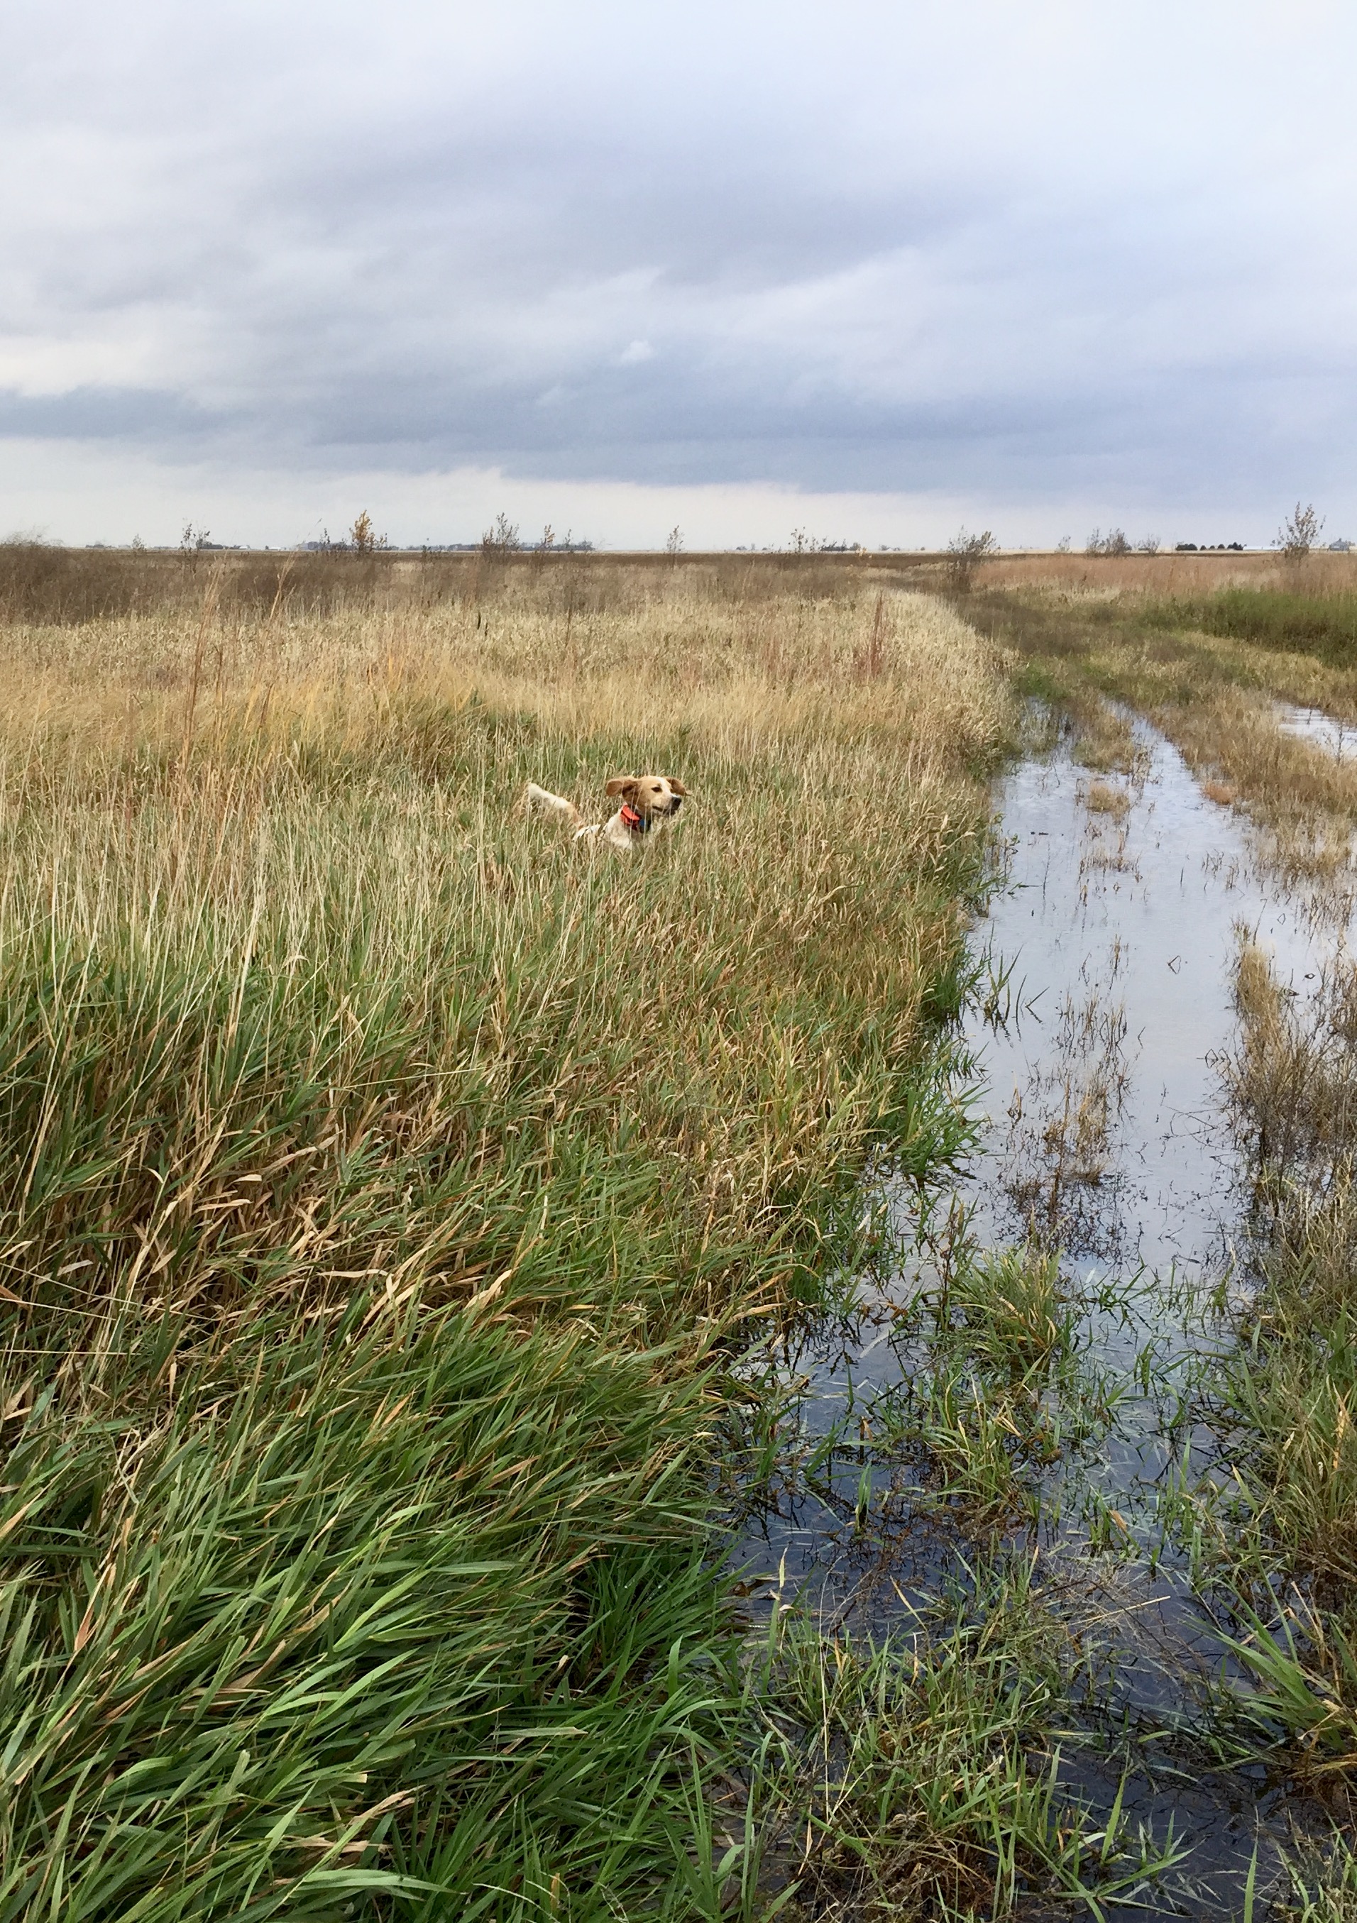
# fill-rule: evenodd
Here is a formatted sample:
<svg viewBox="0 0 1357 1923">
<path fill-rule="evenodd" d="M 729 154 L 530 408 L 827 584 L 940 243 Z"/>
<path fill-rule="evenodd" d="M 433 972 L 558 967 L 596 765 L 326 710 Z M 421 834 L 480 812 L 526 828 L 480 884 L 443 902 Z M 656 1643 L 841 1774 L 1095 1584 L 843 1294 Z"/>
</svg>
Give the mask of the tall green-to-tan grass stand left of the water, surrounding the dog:
<svg viewBox="0 0 1357 1923">
<path fill-rule="evenodd" d="M 851 575 L 492 587 L 0 631 L 4 1917 L 725 1900 L 723 1358 L 967 1138 L 1009 694 Z M 515 810 L 644 767 L 644 860 Z"/>
</svg>

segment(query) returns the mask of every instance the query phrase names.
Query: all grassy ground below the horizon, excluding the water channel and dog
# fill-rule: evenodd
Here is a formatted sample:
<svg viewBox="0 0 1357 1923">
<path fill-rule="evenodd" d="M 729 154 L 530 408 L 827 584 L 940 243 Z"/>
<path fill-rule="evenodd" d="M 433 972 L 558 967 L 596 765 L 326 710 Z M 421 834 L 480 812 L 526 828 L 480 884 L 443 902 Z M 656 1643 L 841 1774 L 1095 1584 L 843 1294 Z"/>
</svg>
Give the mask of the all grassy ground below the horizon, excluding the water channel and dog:
<svg viewBox="0 0 1357 1923">
<path fill-rule="evenodd" d="M 1023 694 L 1096 771 L 1147 713 L 1342 908 L 1357 763 L 1276 704 L 1357 719 L 1345 567 L 0 552 L 0 1923 L 1144 1892 L 1172 1848 L 1061 1794 L 1080 1658 L 1001 1550 L 1078 1386 L 1055 1256 L 957 1258 L 900 1442 L 975 1581 L 894 1640 L 750 1633 L 723 1504 L 782 1390 L 732 1363 L 871 1256 L 875 1167 L 967 1150 Z M 690 792 L 642 860 L 519 808 L 632 769 Z M 1234 1506 L 1176 1511 L 1259 1748 L 1330 1786 L 1355 1006 L 1242 954 L 1271 1258 L 1203 1390 Z"/>
</svg>

